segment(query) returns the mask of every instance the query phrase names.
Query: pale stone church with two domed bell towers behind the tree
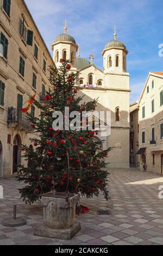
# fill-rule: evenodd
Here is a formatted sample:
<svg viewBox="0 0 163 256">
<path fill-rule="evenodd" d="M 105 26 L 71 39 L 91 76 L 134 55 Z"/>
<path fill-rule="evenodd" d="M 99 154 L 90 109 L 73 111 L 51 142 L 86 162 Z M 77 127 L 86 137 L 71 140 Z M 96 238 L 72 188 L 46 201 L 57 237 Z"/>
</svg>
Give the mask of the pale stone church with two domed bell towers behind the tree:
<svg viewBox="0 0 163 256">
<path fill-rule="evenodd" d="M 73 36 L 65 33 L 55 38 L 52 44 L 54 62 L 59 68 L 60 59 L 71 59 L 71 71 L 79 72 L 77 87 L 84 101 L 98 98 L 97 111 L 111 112 L 111 134 L 106 137 L 106 146 L 113 147 L 108 161 L 110 168 L 129 167 L 129 73 L 127 72 L 127 48 L 123 42 L 114 40 L 102 51 L 103 70 L 90 61 L 81 58 Z M 78 54 L 77 54 L 78 52 Z M 98 138 L 97 138 L 98 139 Z M 104 138 L 101 138 L 104 139 Z"/>
</svg>

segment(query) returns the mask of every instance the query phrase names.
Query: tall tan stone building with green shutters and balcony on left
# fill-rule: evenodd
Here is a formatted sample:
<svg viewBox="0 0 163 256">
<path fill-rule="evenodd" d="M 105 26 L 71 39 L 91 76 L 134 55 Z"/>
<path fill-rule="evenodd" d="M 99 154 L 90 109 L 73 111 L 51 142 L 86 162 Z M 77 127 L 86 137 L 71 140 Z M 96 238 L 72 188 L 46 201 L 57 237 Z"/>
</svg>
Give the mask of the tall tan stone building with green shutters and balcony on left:
<svg viewBox="0 0 163 256">
<path fill-rule="evenodd" d="M 21 144 L 30 145 L 30 125 L 19 108 L 29 95 L 49 86 L 48 66 L 53 58 L 23 0 L 0 0 L 0 176 L 17 172 Z M 31 108 L 34 115 L 40 112 Z M 33 147 L 31 145 L 30 147 Z"/>
</svg>

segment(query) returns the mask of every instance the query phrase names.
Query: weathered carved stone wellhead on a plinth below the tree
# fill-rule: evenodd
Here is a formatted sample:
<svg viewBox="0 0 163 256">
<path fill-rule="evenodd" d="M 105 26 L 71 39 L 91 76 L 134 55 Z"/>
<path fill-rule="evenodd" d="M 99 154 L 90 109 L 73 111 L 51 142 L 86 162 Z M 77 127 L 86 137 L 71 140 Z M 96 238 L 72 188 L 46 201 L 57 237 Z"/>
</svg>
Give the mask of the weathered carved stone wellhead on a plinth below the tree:
<svg viewBox="0 0 163 256">
<path fill-rule="evenodd" d="M 78 194 L 72 195 L 67 202 L 57 195 L 42 196 L 43 225 L 35 229 L 35 235 L 59 239 L 71 239 L 80 230 L 80 223 L 74 223 Z"/>
</svg>

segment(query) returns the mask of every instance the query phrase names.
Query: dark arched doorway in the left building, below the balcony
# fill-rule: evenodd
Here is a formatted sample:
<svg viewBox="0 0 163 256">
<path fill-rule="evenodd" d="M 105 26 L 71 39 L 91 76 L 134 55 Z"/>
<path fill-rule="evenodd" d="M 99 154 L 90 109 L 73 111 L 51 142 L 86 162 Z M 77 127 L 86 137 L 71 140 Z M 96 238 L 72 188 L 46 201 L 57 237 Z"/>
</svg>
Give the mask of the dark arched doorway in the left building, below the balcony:
<svg viewBox="0 0 163 256">
<path fill-rule="evenodd" d="M 14 138 L 13 153 L 12 153 L 12 174 L 17 173 L 17 165 L 21 164 L 21 138 L 16 135 Z"/>
</svg>

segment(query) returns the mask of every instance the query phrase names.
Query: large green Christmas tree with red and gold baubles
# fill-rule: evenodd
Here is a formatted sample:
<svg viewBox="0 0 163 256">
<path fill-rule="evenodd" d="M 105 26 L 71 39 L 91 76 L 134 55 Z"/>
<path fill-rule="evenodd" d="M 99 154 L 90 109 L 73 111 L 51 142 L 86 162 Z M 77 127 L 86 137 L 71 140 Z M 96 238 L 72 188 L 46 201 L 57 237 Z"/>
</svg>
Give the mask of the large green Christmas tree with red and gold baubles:
<svg viewBox="0 0 163 256">
<path fill-rule="evenodd" d="M 83 112 L 95 110 L 97 100 L 81 103 L 83 97 L 78 96 L 78 90 L 74 87 L 78 73 L 70 71 L 70 61 L 61 59 L 60 62 L 59 69 L 49 68 L 51 86 L 45 92 L 45 103 L 41 104 L 30 97 L 30 104 L 39 108 L 41 115 L 37 118 L 27 113 L 36 137 L 30 139 L 34 149 L 27 145 L 21 149 L 22 157 L 28 164 L 19 166 L 16 179 L 26 184 L 19 192 L 26 203 L 33 203 L 51 191 L 65 193 L 66 197 L 68 193 L 79 193 L 88 198 L 98 196 L 102 191 L 108 200 L 105 157 L 111 149 L 102 150 L 103 141 L 94 139 L 99 131 L 90 131 L 87 119 L 82 120 L 81 117 Z M 75 129 L 71 129 L 73 118 L 65 115 L 65 107 L 70 112 L 78 112 L 80 124 Z M 58 116 L 54 117 L 53 113 L 58 112 L 64 117 L 64 129 L 54 129 L 53 124 Z M 70 126 L 65 129 L 67 120 Z M 82 129 L 83 124 L 86 125 L 85 130 Z"/>
</svg>

